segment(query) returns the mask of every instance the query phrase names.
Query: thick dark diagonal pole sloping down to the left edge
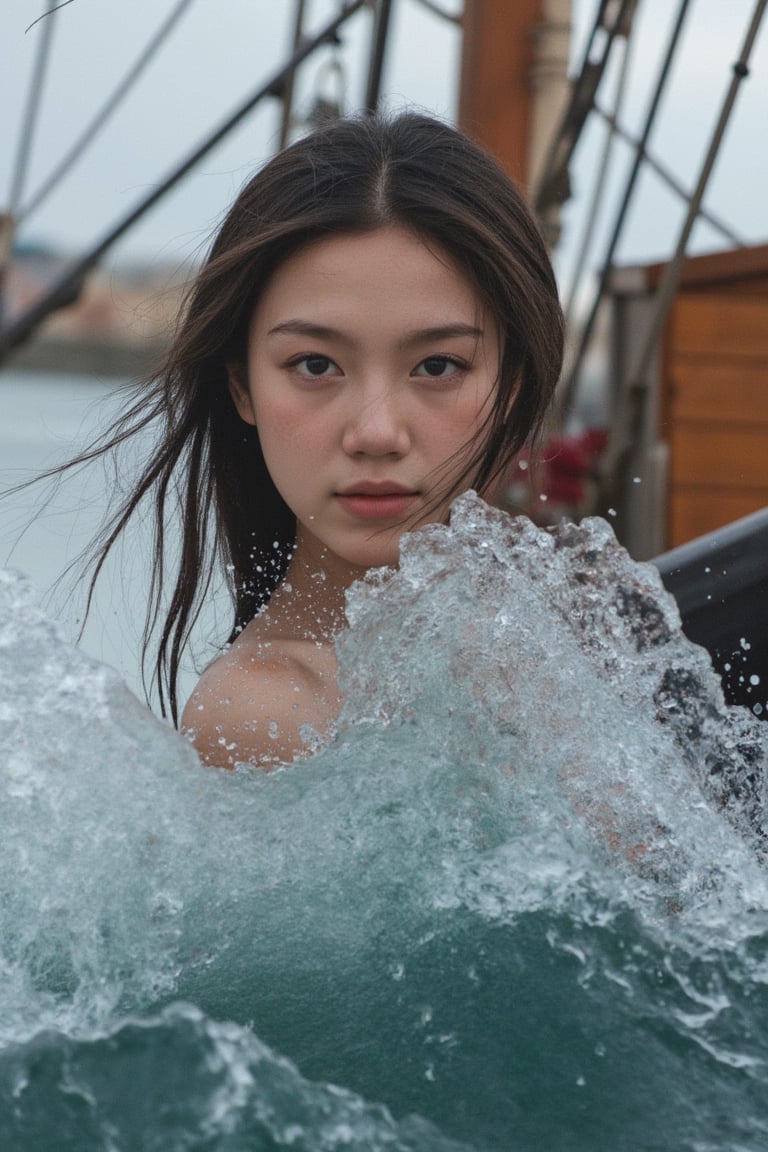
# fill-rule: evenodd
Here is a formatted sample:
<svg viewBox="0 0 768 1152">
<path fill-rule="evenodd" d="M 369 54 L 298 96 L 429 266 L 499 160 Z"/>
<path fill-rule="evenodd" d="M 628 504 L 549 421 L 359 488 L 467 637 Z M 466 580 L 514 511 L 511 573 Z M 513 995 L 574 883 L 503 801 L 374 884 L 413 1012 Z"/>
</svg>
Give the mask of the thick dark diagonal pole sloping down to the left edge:
<svg viewBox="0 0 768 1152">
<path fill-rule="evenodd" d="M 79 296 L 85 276 L 88 273 L 99 263 L 101 257 L 107 252 L 112 245 L 121 238 L 140 218 L 153 207 L 158 200 L 160 200 L 172 188 L 174 188 L 180 180 L 182 180 L 188 172 L 190 172 L 200 160 L 204 159 L 211 152 L 212 149 L 219 144 L 228 132 L 235 128 L 241 120 L 244 119 L 252 111 L 252 108 L 259 104 L 266 96 L 279 97 L 284 88 L 286 81 L 294 73 L 294 70 L 306 60 L 313 52 L 317 51 L 327 40 L 333 40 L 336 32 L 341 25 L 349 20 L 359 8 L 362 8 L 367 0 L 347 0 L 342 10 L 330 20 L 325 28 L 313 39 L 305 40 L 297 52 L 294 53 L 291 59 L 280 68 L 272 79 L 267 81 L 261 85 L 252 96 L 248 97 L 246 100 L 226 120 L 219 128 L 207 137 L 207 139 L 200 144 L 190 156 L 183 160 L 177 168 L 175 168 L 169 176 L 167 176 L 154 191 L 150 192 L 145 199 L 143 199 L 128 215 L 115 225 L 96 244 L 91 251 L 84 256 L 81 260 L 68 268 L 60 278 L 52 285 L 48 291 L 39 300 L 32 308 L 28 309 L 23 316 L 20 316 L 13 324 L 8 325 L 0 332 L 0 363 L 5 359 L 12 349 L 16 348 L 18 344 L 28 340 L 33 332 L 40 326 L 43 320 L 51 312 L 54 312 L 59 308 L 66 308 L 68 304 L 74 304 L 74 302 Z"/>
</svg>

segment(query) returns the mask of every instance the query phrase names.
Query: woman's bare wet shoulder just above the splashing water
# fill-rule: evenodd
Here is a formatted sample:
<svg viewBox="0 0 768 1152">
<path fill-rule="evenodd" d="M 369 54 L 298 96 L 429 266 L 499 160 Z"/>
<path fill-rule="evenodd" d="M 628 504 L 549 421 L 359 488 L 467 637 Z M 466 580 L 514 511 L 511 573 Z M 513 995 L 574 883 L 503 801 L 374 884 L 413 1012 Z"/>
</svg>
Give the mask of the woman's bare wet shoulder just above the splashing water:
<svg viewBox="0 0 768 1152">
<path fill-rule="evenodd" d="M 325 736 L 337 711 L 330 645 L 265 643 L 245 629 L 204 672 L 182 728 L 204 764 L 268 768 L 306 755 L 305 726 Z"/>
</svg>

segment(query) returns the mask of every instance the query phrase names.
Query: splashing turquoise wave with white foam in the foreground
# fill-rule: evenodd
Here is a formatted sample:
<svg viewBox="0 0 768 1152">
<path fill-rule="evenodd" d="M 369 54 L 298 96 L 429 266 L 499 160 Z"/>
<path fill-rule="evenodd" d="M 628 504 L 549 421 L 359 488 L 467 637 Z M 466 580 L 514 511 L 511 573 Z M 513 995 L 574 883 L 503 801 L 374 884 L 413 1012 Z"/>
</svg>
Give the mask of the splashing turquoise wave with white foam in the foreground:
<svg viewBox="0 0 768 1152">
<path fill-rule="evenodd" d="M 201 768 L 0 584 L 0 1147 L 759 1152 L 766 729 L 608 525 L 469 495 L 330 746 Z"/>
</svg>

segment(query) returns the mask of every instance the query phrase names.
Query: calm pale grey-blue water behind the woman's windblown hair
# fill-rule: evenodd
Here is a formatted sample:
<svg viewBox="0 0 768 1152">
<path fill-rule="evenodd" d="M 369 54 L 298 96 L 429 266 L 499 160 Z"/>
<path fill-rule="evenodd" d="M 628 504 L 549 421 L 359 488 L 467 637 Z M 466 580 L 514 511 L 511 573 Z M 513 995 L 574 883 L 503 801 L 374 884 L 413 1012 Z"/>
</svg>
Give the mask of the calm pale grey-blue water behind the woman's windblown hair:
<svg viewBox="0 0 768 1152">
<path fill-rule="evenodd" d="M 120 411 L 128 380 L 38 372 L 0 372 L 0 492 L 54 468 L 82 450 Z M 101 528 L 109 501 L 128 491 L 138 455 L 97 463 L 59 482 L 41 480 L 0 499 L 0 567 L 24 573 L 35 593 L 73 642 L 79 636 L 85 582 L 78 558 Z M 117 547 L 99 582 L 81 639 L 83 651 L 115 667 L 143 697 L 140 635 L 150 571 L 146 525 L 136 525 Z M 226 611 L 225 611 L 226 615 Z M 199 665 L 226 638 L 213 606 L 198 629 Z M 198 667 L 196 666 L 196 667 Z M 196 667 L 182 677 L 189 691 Z"/>
</svg>

